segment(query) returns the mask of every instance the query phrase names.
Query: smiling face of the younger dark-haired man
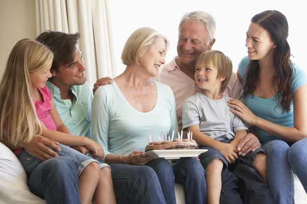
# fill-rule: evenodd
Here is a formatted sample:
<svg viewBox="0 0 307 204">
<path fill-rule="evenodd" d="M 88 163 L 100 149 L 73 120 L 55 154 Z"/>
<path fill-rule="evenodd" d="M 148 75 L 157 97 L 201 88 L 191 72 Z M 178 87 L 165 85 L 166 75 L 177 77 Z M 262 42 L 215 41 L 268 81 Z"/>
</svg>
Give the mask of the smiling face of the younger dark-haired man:
<svg viewBox="0 0 307 204">
<path fill-rule="evenodd" d="M 82 85 L 86 82 L 84 75 L 85 66 L 82 60 L 82 53 L 76 47 L 72 63 L 61 65 L 58 71 L 52 71 L 52 83 L 62 86 Z"/>
</svg>

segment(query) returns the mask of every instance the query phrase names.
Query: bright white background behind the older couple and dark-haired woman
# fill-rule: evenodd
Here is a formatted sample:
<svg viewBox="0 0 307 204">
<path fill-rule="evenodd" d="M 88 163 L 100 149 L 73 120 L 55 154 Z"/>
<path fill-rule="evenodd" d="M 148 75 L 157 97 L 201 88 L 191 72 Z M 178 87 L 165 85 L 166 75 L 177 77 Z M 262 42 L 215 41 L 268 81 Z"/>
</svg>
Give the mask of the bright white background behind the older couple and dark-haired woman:
<svg viewBox="0 0 307 204">
<path fill-rule="evenodd" d="M 116 77 L 125 66 L 120 56 L 125 41 L 133 31 L 140 27 L 151 27 L 170 40 L 166 62 L 177 56 L 178 25 L 183 14 L 195 10 L 209 12 L 216 20 L 216 41 L 212 49 L 228 55 L 237 70 L 239 61 L 247 55 L 245 47 L 246 31 L 251 18 L 265 10 L 278 10 L 288 19 L 292 60 L 307 71 L 305 61 L 307 40 L 307 15 L 304 1 L 301 0 L 106 0 L 108 9 L 108 28 L 111 36 L 112 64 Z M 119 6 L 120 5 L 120 6 Z"/>
</svg>

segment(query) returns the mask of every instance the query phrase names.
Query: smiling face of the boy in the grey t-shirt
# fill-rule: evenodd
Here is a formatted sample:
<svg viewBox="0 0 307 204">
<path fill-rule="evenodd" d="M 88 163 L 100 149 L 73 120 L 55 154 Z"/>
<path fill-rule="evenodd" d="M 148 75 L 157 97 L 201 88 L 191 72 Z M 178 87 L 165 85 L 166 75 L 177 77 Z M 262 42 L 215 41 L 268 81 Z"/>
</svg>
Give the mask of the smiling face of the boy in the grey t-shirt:
<svg viewBox="0 0 307 204">
<path fill-rule="evenodd" d="M 195 82 L 203 90 L 220 91 L 224 77 L 217 78 L 217 68 L 212 63 L 198 63 L 195 65 Z"/>
</svg>

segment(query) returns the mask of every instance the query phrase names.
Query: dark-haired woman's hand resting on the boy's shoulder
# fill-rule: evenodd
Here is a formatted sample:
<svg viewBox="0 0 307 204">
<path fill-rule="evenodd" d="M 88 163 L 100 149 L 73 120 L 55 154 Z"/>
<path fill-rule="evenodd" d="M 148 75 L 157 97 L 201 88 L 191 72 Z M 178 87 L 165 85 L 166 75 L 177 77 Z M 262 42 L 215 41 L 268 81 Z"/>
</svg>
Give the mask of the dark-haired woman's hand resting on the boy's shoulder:
<svg viewBox="0 0 307 204">
<path fill-rule="evenodd" d="M 227 101 L 227 105 L 233 109 L 229 109 L 230 112 L 238 115 L 245 122 L 250 125 L 254 125 L 258 118 L 251 110 L 249 110 L 241 101 L 237 99 L 230 99 Z"/>
</svg>

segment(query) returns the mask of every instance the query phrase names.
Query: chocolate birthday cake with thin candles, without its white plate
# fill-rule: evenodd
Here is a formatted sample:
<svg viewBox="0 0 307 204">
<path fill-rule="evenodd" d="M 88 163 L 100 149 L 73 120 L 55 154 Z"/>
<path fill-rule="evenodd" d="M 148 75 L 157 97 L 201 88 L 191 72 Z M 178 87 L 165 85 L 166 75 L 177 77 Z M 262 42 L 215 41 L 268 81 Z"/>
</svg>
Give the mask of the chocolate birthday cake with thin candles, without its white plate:
<svg viewBox="0 0 307 204">
<path fill-rule="evenodd" d="M 164 138 L 164 139 L 163 139 Z M 173 136 L 172 136 L 173 138 Z M 145 147 L 146 151 L 151 150 L 165 150 L 165 149 L 198 149 L 198 144 L 195 142 L 195 140 L 192 139 L 192 136 L 190 133 L 188 133 L 188 139 L 182 139 L 181 136 L 178 133 L 178 139 L 170 140 L 170 137 L 165 135 L 165 137 L 162 135 L 162 141 L 155 142 L 154 139 L 150 139 L 150 136 L 148 135 L 148 145 Z"/>
</svg>

